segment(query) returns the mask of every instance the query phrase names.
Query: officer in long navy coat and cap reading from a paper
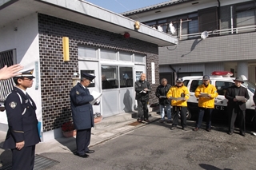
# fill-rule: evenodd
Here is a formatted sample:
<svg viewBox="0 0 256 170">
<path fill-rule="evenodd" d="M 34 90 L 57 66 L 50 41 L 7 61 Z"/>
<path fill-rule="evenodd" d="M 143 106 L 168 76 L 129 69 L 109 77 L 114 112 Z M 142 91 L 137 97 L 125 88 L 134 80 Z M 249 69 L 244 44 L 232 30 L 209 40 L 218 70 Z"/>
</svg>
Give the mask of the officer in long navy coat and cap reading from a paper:
<svg viewBox="0 0 256 170">
<path fill-rule="evenodd" d="M 93 153 L 94 150 L 88 148 L 90 144 L 91 128 L 94 127 L 94 111 L 90 101 L 94 97 L 90 95 L 87 87 L 95 76 L 82 73 L 81 81 L 70 91 L 71 110 L 74 121 L 74 128 L 77 130 L 76 145 L 77 156 L 87 158 L 86 153 Z"/>
</svg>

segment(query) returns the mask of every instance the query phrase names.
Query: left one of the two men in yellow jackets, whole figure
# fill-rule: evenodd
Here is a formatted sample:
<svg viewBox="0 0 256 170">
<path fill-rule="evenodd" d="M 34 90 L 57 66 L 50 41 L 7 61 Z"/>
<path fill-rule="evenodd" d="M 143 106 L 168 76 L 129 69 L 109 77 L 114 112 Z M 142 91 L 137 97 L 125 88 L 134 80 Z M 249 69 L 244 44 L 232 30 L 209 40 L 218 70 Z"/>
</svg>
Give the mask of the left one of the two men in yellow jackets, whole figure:
<svg viewBox="0 0 256 170">
<path fill-rule="evenodd" d="M 166 97 L 171 100 L 171 105 L 173 106 L 174 119 L 173 124 L 171 126 L 171 130 L 177 128 L 178 125 L 178 113 L 181 113 L 181 124 L 182 129 L 187 130 L 186 128 L 186 110 L 187 104 L 186 101 L 190 98 L 189 90 L 182 83 L 182 78 L 177 78 L 176 85 L 172 86 Z"/>
</svg>

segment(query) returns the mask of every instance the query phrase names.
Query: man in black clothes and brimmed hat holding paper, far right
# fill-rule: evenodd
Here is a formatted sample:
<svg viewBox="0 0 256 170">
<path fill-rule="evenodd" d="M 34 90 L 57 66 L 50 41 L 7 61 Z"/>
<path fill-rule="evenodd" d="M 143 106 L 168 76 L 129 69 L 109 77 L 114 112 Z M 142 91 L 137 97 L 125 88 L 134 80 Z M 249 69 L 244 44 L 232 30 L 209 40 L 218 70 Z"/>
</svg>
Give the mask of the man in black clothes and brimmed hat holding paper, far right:
<svg viewBox="0 0 256 170">
<path fill-rule="evenodd" d="M 234 79 L 234 85 L 226 90 L 226 99 L 228 100 L 227 109 L 229 112 L 229 132 L 232 135 L 234 132 L 234 121 L 239 117 L 240 135 L 246 136 L 246 101 L 250 96 L 246 88 L 242 87 L 242 77 Z M 238 97 L 244 97 L 242 100 Z"/>
</svg>

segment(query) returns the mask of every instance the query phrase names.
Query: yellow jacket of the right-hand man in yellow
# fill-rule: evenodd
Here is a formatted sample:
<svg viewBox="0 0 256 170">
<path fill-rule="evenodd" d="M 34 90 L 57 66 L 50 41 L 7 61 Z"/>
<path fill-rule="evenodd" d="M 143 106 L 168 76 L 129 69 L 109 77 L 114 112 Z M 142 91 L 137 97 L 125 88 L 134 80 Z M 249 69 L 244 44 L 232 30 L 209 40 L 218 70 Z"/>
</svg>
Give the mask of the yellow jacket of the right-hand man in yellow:
<svg viewBox="0 0 256 170">
<path fill-rule="evenodd" d="M 211 97 L 199 97 L 198 107 L 214 109 L 214 98 L 218 97 L 216 87 L 210 84 L 208 84 L 207 87 L 204 84 L 198 85 L 198 88 L 194 91 L 194 96 L 198 97 L 200 93 L 208 93 Z"/>
</svg>

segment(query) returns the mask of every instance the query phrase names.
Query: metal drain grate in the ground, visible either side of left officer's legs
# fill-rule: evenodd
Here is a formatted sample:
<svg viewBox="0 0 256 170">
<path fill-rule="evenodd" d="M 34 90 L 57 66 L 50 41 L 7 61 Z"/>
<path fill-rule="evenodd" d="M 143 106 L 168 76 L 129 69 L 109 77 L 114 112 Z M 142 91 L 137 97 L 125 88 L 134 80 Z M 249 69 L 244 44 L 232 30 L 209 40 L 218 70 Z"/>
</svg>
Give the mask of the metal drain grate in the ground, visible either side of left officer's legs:
<svg viewBox="0 0 256 170">
<path fill-rule="evenodd" d="M 34 157 L 34 170 L 43 170 L 46 168 L 53 167 L 55 164 L 58 164 L 59 162 L 56 160 L 51 160 L 50 158 L 46 158 L 44 156 L 36 155 Z M 1 170 L 10 170 L 11 164 L 6 164 Z"/>
</svg>

